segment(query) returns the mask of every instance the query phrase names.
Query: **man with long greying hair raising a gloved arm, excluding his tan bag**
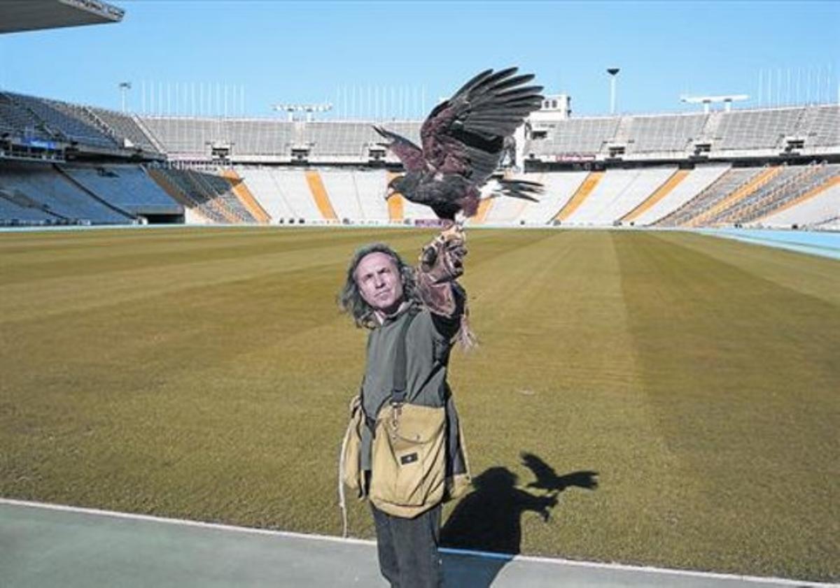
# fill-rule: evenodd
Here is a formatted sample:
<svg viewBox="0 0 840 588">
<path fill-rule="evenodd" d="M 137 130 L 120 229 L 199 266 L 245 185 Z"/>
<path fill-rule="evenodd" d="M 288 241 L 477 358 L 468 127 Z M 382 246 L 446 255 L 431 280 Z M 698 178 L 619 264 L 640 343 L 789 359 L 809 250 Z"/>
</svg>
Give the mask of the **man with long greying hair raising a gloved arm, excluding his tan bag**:
<svg viewBox="0 0 840 588">
<path fill-rule="evenodd" d="M 417 268 L 382 243 L 360 248 L 350 260 L 339 305 L 357 326 L 370 330 L 360 392 L 365 418 L 360 450 L 364 495 L 370 489 L 376 419 L 392 399 L 401 345 L 405 349 L 405 403 L 446 408 L 444 500 L 469 485 L 458 414 L 447 383 L 454 341 L 465 346 L 473 342 L 466 321 L 465 290 L 456 282 L 464 271 L 465 254 L 464 233 L 455 226 L 423 248 Z M 426 510 L 413 518 L 385 513 L 373 502 L 370 507 L 380 570 L 391 586 L 442 585 L 441 502 L 424 505 Z"/>
</svg>

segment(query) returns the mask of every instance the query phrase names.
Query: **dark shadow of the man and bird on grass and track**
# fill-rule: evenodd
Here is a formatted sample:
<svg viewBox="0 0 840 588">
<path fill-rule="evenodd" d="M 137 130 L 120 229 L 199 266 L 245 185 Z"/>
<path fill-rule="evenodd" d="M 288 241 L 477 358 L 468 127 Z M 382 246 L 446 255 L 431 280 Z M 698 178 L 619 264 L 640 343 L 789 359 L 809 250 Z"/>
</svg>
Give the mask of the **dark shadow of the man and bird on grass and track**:
<svg viewBox="0 0 840 588">
<path fill-rule="evenodd" d="M 574 471 L 558 475 L 554 468 L 532 453 L 522 453 L 522 465 L 533 472 L 535 481 L 517 487 L 517 475 L 506 467 L 491 467 L 473 479 L 474 492 L 461 499 L 441 528 L 444 548 L 492 552 L 493 557 L 448 554 L 444 558 L 446 578 L 452 585 L 479 588 L 489 586 L 512 555 L 522 547 L 522 514 L 538 513 L 548 522 L 558 497 L 570 487 L 595 490 L 596 471 Z"/>
</svg>

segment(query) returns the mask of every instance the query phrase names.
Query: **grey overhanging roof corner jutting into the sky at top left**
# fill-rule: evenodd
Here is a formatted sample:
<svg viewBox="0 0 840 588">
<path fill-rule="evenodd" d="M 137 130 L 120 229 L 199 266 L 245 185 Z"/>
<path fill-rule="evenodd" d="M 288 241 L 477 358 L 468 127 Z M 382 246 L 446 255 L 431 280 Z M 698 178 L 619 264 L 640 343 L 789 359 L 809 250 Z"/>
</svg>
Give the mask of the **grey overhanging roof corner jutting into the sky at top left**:
<svg viewBox="0 0 840 588">
<path fill-rule="evenodd" d="M 100 0 L 0 0 L 0 34 L 118 23 L 124 13 Z"/>
</svg>

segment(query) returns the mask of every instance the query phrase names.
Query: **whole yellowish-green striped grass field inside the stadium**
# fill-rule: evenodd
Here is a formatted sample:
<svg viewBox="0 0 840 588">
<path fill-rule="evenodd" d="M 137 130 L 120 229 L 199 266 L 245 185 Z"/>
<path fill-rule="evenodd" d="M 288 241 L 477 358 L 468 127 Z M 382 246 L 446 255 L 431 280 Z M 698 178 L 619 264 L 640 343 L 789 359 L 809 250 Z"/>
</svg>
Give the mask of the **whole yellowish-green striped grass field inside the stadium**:
<svg viewBox="0 0 840 588">
<path fill-rule="evenodd" d="M 335 294 L 354 247 L 429 237 L 0 234 L 0 495 L 340 533 L 365 332 Z M 481 345 L 451 378 L 480 484 L 450 544 L 840 580 L 840 263 L 670 232 L 469 244 Z"/>
</svg>

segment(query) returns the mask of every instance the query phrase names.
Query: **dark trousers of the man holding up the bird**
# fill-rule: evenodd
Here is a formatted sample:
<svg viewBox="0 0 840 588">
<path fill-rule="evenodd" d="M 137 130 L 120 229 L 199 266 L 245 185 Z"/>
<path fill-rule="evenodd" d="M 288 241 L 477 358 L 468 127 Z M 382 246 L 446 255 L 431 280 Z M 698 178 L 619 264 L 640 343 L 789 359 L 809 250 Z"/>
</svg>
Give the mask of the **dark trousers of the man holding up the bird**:
<svg viewBox="0 0 840 588">
<path fill-rule="evenodd" d="M 441 506 L 417 518 L 392 517 L 371 502 L 376 524 L 379 569 L 391 588 L 440 588 L 444 585 L 440 543 Z"/>
</svg>

